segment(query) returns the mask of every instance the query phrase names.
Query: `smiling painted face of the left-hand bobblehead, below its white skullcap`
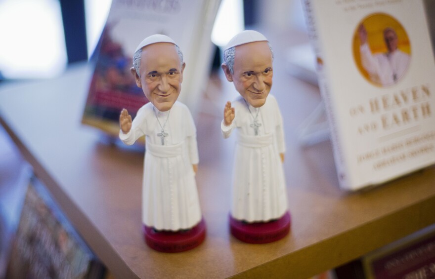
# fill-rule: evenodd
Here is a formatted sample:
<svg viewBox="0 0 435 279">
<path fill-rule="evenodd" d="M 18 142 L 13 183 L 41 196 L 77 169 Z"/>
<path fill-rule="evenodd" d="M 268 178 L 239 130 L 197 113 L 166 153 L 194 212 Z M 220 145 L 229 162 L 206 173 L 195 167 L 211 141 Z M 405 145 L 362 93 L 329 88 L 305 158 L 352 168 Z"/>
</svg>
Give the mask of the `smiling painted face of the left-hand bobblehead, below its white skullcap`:
<svg viewBox="0 0 435 279">
<path fill-rule="evenodd" d="M 134 69 L 131 73 L 146 98 L 159 111 L 166 112 L 172 108 L 180 94 L 185 66 L 185 63 L 181 65 L 174 44 L 159 42 L 142 49 L 140 77 Z"/>
</svg>

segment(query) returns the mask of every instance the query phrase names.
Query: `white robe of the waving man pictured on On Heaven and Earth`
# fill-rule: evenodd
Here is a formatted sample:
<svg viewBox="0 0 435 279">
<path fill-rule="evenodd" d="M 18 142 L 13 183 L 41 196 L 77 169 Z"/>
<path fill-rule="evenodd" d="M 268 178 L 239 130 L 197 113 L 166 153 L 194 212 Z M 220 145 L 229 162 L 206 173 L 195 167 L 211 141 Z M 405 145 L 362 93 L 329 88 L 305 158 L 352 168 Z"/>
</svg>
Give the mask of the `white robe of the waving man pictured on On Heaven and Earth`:
<svg viewBox="0 0 435 279">
<path fill-rule="evenodd" d="M 397 82 L 408 69 L 410 57 L 396 49 L 392 53 L 372 54 L 369 45 L 360 46 L 361 63 L 369 73 L 370 79 L 378 84 L 392 85 Z"/>
</svg>

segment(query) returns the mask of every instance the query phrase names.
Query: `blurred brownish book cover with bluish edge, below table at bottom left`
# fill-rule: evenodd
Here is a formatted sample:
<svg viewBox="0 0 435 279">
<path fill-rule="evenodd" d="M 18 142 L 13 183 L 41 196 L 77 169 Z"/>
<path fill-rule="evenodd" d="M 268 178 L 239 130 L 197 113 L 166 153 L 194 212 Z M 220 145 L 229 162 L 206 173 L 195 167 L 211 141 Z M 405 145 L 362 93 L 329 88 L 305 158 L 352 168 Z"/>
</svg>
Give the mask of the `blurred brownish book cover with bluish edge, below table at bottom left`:
<svg viewBox="0 0 435 279">
<path fill-rule="evenodd" d="M 44 186 L 29 183 L 6 278 L 103 278 L 89 250 Z"/>
</svg>

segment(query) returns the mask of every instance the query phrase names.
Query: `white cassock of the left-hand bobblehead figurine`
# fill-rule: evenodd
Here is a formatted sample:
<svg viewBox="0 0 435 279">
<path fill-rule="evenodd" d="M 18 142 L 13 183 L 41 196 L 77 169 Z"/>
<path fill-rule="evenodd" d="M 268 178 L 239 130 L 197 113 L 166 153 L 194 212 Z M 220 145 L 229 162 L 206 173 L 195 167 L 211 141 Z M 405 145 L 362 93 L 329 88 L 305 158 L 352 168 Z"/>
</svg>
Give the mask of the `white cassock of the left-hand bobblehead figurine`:
<svg viewBox="0 0 435 279">
<path fill-rule="evenodd" d="M 162 128 L 164 126 L 164 145 Z M 169 118 L 168 118 L 169 116 Z M 167 122 L 166 122 L 167 121 Z M 166 125 L 165 125 L 166 122 Z M 145 135 L 146 151 L 142 184 L 142 221 L 157 230 L 178 231 L 201 221 L 195 173 L 199 161 L 196 127 L 188 108 L 175 102 L 160 112 L 151 103 L 141 107 L 128 134 L 119 137 L 128 145 Z"/>
</svg>

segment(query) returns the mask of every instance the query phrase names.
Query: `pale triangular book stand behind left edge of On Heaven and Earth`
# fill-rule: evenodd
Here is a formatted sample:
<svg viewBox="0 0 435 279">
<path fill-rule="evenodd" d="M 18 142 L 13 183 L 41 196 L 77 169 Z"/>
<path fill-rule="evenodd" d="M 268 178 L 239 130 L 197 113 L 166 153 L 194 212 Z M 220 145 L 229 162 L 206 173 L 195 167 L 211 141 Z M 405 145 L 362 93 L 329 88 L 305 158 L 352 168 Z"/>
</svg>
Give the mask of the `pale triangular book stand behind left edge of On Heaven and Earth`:
<svg viewBox="0 0 435 279">
<path fill-rule="evenodd" d="M 329 139 L 330 131 L 328 121 L 324 120 L 325 114 L 325 105 L 323 101 L 320 101 L 314 111 L 301 123 L 296 131 L 298 142 L 301 146 L 315 145 Z"/>
</svg>

